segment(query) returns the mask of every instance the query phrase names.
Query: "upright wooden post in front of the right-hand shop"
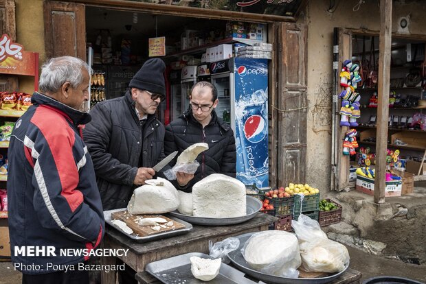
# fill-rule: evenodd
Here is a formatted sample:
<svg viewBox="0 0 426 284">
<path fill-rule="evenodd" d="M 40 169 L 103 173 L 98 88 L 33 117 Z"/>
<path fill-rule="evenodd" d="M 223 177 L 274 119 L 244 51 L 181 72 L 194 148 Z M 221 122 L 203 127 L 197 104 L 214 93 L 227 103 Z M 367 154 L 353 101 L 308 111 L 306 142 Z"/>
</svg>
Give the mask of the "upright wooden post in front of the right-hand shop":
<svg viewBox="0 0 426 284">
<path fill-rule="evenodd" d="M 392 43 L 392 0 L 380 0 L 379 82 L 376 132 L 374 202 L 385 202 L 386 149 L 388 148 L 390 49 Z"/>
</svg>

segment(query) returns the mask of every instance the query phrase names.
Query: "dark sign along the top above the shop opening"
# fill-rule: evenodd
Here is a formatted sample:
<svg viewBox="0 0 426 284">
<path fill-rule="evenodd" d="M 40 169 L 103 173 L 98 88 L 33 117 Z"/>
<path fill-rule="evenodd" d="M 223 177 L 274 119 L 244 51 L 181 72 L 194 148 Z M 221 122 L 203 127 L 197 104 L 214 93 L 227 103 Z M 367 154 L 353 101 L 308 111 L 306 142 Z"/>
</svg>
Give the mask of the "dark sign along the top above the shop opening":
<svg viewBox="0 0 426 284">
<path fill-rule="evenodd" d="M 152 0 L 133 1 L 153 3 Z M 301 5 L 306 2 L 305 0 L 169 0 L 158 1 L 158 4 L 295 17 Z"/>
</svg>

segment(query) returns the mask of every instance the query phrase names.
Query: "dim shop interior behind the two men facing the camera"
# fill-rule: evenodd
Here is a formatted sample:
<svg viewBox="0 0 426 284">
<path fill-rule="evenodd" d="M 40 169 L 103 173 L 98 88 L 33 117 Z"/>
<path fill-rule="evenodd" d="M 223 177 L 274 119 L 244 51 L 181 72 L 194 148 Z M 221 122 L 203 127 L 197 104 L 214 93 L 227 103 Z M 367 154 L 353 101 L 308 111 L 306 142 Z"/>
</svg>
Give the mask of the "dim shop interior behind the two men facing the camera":
<svg viewBox="0 0 426 284">
<path fill-rule="evenodd" d="M 236 24 L 236 22 L 234 22 Z M 267 42 L 267 25 L 262 25 L 260 40 L 250 40 L 249 32 L 261 24 L 241 23 L 232 27 L 225 20 L 191 18 L 164 14 L 147 14 L 98 7 L 86 7 L 87 47 L 93 49 L 91 107 L 104 99 L 124 95 L 128 82 L 150 57 L 148 39 L 165 37 L 166 76 L 170 83 L 167 98 L 161 103 L 157 116 L 168 124 L 188 108 L 190 88 L 198 80 L 210 80 L 209 60 L 202 58 L 208 47 L 221 44 Z M 236 29 L 238 28 L 238 29 Z M 250 30 L 251 29 L 251 30 Z M 244 34 L 241 35 L 240 32 Z M 234 34 L 233 34 L 234 33 Z M 256 36 L 256 34 L 252 34 Z M 244 37 L 238 38 L 236 37 Z M 258 34 L 259 36 L 259 34 Z M 234 46 L 230 46 L 232 53 Z M 224 52 L 225 53 L 225 52 Z M 270 53 L 269 53 L 270 54 Z M 89 58 L 89 57 L 88 57 Z M 218 60 L 225 58 L 216 58 Z M 216 60 L 210 60 L 213 62 Z M 184 74 L 184 75 L 183 75 Z M 221 80 L 216 80 L 220 84 Z M 231 121 L 229 87 L 218 87 L 218 116 Z M 183 94 L 183 97 L 182 95 Z M 221 100 L 220 97 L 223 97 Z M 228 99 L 228 102 L 225 102 Z"/>
</svg>

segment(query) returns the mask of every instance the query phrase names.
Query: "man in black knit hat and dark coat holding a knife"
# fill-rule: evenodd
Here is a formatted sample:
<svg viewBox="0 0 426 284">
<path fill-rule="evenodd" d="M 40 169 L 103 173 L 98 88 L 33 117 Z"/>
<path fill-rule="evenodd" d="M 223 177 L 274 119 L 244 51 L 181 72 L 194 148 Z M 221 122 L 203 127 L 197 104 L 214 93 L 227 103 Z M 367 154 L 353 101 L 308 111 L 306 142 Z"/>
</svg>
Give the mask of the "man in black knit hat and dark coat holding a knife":
<svg viewBox="0 0 426 284">
<path fill-rule="evenodd" d="M 127 206 L 133 189 L 155 176 L 164 155 L 164 125 L 155 111 L 166 97 L 163 60 L 147 60 L 128 84 L 124 97 L 96 104 L 84 139 L 93 160 L 105 210 Z M 165 167 L 160 171 L 166 170 Z M 179 174 L 186 184 L 193 175 Z"/>
</svg>

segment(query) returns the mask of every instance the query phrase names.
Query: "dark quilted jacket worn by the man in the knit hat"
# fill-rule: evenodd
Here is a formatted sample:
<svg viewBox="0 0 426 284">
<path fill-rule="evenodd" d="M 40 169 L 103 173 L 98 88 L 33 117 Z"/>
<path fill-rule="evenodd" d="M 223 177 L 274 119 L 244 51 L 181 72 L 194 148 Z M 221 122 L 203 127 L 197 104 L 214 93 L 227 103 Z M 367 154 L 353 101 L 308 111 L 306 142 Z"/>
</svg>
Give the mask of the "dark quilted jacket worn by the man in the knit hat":
<svg viewBox="0 0 426 284">
<path fill-rule="evenodd" d="M 137 168 L 153 167 L 164 158 L 164 125 L 155 115 L 140 123 L 129 91 L 124 97 L 96 104 L 90 115 L 92 121 L 83 137 L 95 167 L 102 206 L 104 210 L 124 208 L 135 188 Z"/>
</svg>

